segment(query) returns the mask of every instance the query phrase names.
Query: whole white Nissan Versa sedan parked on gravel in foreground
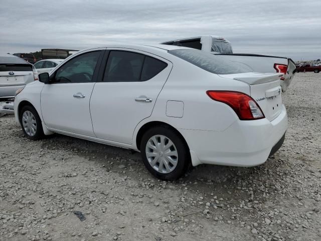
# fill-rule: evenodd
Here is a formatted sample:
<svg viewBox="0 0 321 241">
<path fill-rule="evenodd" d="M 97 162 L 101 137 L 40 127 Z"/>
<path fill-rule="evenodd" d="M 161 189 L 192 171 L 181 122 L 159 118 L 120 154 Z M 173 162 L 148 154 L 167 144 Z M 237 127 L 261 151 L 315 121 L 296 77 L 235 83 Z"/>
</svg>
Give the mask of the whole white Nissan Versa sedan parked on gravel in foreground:
<svg viewBox="0 0 321 241">
<path fill-rule="evenodd" d="M 110 45 L 68 57 L 16 92 L 27 138 L 60 133 L 140 151 L 175 180 L 189 164 L 255 166 L 282 145 L 282 74 L 261 74 L 200 50 Z"/>
</svg>

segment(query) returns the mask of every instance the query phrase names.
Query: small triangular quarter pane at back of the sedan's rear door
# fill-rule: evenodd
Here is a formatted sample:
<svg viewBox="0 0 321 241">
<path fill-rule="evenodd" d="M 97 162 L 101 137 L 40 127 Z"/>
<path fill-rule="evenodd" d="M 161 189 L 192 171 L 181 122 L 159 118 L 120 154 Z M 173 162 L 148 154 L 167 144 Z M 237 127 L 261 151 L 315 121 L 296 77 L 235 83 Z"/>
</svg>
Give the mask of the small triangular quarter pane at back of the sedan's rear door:
<svg viewBox="0 0 321 241">
<path fill-rule="evenodd" d="M 141 81 L 146 81 L 148 79 L 151 79 L 166 67 L 167 67 L 167 63 L 161 60 L 146 56 L 144 65 L 141 71 Z"/>
</svg>

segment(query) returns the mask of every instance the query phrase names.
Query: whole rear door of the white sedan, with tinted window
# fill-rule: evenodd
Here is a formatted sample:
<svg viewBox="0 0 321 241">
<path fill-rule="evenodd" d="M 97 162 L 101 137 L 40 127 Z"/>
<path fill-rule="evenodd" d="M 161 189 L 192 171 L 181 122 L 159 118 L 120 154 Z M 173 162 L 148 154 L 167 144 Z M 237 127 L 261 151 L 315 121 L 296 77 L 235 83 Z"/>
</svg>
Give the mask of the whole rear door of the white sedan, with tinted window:
<svg viewBox="0 0 321 241">
<path fill-rule="evenodd" d="M 90 100 L 94 133 L 131 144 L 137 124 L 150 116 L 172 63 L 142 51 L 112 48 L 102 66 Z"/>
</svg>

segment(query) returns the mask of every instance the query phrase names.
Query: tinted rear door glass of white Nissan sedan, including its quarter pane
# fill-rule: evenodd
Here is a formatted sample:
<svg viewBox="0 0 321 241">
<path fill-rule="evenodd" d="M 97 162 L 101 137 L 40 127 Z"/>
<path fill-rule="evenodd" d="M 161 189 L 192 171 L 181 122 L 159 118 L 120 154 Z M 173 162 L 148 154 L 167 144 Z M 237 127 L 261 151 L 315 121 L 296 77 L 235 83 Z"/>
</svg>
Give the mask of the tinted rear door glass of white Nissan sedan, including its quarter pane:
<svg viewBox="0 0 321 241">
<path fill-rule="evenodd" d="M 138 82 L 151 79 L 167 67 L 167 63 L 127 51 L 110 51 L 104 82 Z"/>
</svg>

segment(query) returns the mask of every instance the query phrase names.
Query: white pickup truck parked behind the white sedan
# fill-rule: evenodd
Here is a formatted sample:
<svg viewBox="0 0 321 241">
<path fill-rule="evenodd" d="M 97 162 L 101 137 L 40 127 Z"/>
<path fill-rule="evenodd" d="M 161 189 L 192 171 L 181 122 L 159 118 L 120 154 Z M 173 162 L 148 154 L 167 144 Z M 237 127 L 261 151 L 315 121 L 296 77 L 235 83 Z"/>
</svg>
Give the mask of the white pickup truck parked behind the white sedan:
<svg viewBox="0 0 321 241">
<path fill-rule="evenodd" d="M 282 92 L 285 92 L 295 74 L 295 63 L 290 58 L 258 55 L 258 54 L 234 54 L 231 43 L 218 36 L 201 36 L 188 39 L 166 41 L 162 44 L 184 46 L 211 52 L 235 62 L 251 72 L 259 73 L 283 73 L 281 78 Z"/>
</svg>

